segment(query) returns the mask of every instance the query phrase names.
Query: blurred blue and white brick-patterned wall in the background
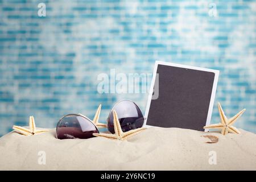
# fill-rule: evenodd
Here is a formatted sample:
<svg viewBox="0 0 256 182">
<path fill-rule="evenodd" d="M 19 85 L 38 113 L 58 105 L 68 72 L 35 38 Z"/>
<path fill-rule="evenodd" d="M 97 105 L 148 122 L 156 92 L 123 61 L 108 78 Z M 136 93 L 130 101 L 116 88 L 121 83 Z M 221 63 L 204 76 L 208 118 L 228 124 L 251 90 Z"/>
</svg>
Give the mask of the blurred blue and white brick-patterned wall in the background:
<svg viewBox="0 0 256 182">
<path fill-rule="evenodd" d="M 230 117 L 245 107 L 236 126 L 256 133 L 255 21 L 248 0 L 0 0 L 0 135 L 29 115 L 39 127 L 93 118 L 100 103 L 105 121 L 122 98 L 144 110 L 147 94 L 100 94 L 97 76 L 151 73 L 155 60 L 219 69 L 212 122 L 217 101 Z"/>
</svg>

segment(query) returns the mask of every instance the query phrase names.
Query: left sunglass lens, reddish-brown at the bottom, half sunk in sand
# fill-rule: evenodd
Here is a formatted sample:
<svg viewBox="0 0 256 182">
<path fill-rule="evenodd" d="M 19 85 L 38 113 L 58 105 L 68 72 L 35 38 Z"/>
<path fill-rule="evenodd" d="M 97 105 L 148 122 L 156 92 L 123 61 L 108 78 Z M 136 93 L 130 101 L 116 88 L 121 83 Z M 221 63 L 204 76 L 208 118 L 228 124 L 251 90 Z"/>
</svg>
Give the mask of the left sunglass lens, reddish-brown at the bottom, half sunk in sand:
<svg viewBox="0 0 256 182">
<path fill-rule="evenodd" d="M 59 139 L 87 139 L 94 137 L 93 133 L 99 133 L 97 127 L 89 119 L 75 114 L 61 118 L 56 127 Z"/>
</svg>

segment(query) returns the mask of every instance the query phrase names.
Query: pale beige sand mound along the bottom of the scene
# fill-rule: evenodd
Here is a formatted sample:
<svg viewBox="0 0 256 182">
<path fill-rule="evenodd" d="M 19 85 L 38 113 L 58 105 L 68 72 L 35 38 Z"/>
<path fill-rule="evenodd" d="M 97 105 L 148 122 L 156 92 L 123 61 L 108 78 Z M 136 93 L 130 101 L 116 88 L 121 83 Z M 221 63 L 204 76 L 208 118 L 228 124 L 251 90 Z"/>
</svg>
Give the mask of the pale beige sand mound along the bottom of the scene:
<svg viewBox="0 0 256 182">
<path fill-rule="evenodd" d="M 203 133 L 194 130 L 151 127 L 128 141 L 106 138 L 55 138 L 55 130 L 25 137 L 12 132 L 0 138 L 0 169 L 49 170 L 256 170 L 256 135 Z M 212 134 L 218 143 L 207 144 L 201 135 Z M 46 165 L 38 164 L 38 152 L 46 152 Z M 209 152 L 217 164 L 210 165 Z"/>
</svg>

